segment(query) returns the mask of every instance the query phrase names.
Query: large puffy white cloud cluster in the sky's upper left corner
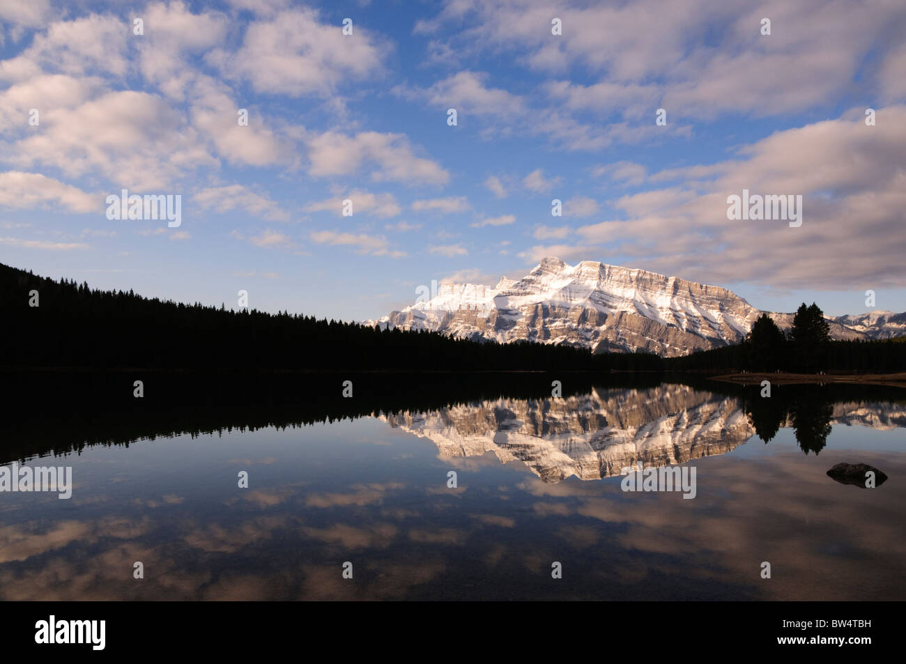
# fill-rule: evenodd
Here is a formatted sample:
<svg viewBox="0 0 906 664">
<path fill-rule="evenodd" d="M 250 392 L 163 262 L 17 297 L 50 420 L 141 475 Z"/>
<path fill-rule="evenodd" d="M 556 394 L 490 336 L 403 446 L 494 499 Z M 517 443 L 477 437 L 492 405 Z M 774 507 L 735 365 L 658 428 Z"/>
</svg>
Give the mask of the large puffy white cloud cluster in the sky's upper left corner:
<svg viewBox="0 0 906 664">
<path fill-rule="evenodd" d="M 238 126 L 235 94 L 189 60 L 226 40 L 226 14 L 193 14 L 178 1 L 149 3 L 140 14 L 140 37 L 129 17 L 89 14 L 48 24 L 0 63 L 0 78 L 17 82 L 0 93 L 0 125 L 22 128 L 9 162 L 142 190 L 217 168 L 215 155 L 253 166 L 298 162 L 292 140 L 254 109 L 249 125 Z M 138 75 L 144 91 L 122 90 L 127 75 Z M 29 108 L 40 111 L 40 128 L 24 127 Z"/>
</svg>

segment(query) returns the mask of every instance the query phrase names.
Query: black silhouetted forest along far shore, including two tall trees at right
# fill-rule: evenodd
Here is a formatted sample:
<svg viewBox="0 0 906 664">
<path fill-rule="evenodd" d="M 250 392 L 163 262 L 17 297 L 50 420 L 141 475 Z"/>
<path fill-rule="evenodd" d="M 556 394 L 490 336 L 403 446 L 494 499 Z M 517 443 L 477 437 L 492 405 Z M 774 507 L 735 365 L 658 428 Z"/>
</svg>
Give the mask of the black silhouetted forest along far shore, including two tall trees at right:
<svg viewBox="0 0 906 664">
<path fill-rule="evenodd" d="M 34 295 L 33 295 L 34 294 Z M 228 310 L 101 291 L 0 265 L 0 367 L 381 371 L 906 370 L 906 337 L 832 341 L 805 303 L 785 334 L 767 314 L 738 344 L 677 358 L 569 345 L 454 339 L 303 314 Z"/>
</svg>

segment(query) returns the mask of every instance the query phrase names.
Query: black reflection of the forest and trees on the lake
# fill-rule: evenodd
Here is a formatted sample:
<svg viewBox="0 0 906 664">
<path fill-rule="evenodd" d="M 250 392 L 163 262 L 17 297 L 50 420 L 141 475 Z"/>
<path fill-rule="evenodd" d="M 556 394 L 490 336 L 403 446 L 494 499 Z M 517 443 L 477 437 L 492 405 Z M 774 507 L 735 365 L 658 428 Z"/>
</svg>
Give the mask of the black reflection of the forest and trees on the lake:
<svg viewBox="0 0 906 664">
<path fill-rule="evenodd" d="M 158 437 L 192 437 L 234 430 L 305 427 L 318 422 L 420 413 L 496 399 L 551 399 L 592 390 L 650 390 L 662 380 L 738 399 L 764 442 L 792 427 L 799 447 L 817 454 L 826 445 L 835 403 L 906 403 L 900 388 L 874 385 L 776 385 L 770 399 L 757 385 L 707 380 L 695 374 L 590 372 L 276 374 L 209 371 L 44 371 L 0 373 L 0 465 L 46 455 L 79 454 L 87 447 L 125 446 Z M 426 380 L 427 378 L 427 380 Z M 133 397 L 133 380 L 144 398 Z M 343 399 L 351 380 L 354 398 Z M 36 398 L 35 395 L 40 395 Z M 53 414 L 53 417 L 48 417 Z"/>
</svg>

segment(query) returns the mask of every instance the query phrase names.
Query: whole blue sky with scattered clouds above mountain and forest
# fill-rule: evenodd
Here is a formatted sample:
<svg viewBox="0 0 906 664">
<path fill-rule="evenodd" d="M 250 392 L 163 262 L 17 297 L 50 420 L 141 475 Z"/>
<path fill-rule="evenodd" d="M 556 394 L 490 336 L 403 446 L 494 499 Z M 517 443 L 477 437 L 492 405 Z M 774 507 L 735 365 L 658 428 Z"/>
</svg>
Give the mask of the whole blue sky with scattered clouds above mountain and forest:
<svg viewBox="0 0 906 664">
<path fill-rule="evenodd" d="M 906 310 L 899 2 L 12 0 L 0 20 L 8 265 L 344 320 L 545 255 L 773 311 Z M 122 188 L 180 195 L 181 225 L 108 219 Z M 743 188 L 803 196 L 803 225 L 728 220 Z"/>
</svg>

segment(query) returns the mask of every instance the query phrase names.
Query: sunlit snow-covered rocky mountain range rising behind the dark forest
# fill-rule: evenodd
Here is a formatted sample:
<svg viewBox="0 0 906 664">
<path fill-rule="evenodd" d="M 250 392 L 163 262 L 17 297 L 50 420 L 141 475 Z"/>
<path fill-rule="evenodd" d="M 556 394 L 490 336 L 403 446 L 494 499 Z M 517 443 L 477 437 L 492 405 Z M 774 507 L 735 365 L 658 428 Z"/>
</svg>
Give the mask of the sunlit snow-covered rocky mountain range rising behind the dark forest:
<svg viewBox="0 0 906 664">
<path fill-rule="evenodd" d="M 762 313 L 719 286 L 619 265 L 545 258 L 523 278 L 494 288 L 440 284 L 399 312 L 366 324 L 429 330 L 473 340 L 569 344 L 594 352 L 685 355 L 742 341 Z M 768 312 L 781 329 L 793 313 Z M 906 313 L 827 318 L 834 339 L 887 339 L 906 334 Z"/>
</svg>

